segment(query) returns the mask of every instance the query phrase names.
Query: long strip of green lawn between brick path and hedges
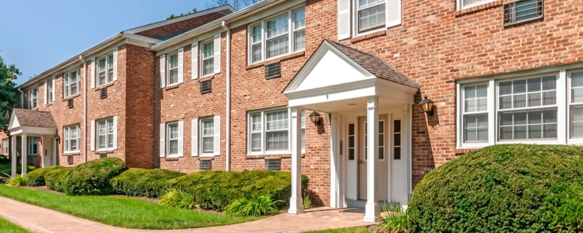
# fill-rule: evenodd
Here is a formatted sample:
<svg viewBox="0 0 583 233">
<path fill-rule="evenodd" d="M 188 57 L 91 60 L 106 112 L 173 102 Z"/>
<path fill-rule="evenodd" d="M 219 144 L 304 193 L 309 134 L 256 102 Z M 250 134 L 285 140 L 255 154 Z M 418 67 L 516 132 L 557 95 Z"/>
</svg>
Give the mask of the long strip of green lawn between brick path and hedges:
<svg viewBox="0 0 583 233">
<path fill-rule="evenodd" d="M 131 197 L 65 196 L 6 185 L 0 185 L 0 196 L 108 225 L 134 229 L 212 227 L 259 219 L 178 209 Z"/>
</svg>

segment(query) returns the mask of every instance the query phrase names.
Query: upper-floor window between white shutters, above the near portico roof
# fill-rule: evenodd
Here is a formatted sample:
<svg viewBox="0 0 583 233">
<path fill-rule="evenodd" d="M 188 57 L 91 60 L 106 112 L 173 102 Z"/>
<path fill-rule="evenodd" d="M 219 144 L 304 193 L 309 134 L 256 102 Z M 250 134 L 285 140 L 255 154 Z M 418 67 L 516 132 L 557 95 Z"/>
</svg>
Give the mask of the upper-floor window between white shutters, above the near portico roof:
<svg viewBox="0 0 583 233">
<path fill-rule="evenodd" d="M 385 27 L 387 17 L 385 0 L 357 0 L 357 30 L 366 33 Z"/>
</svg>

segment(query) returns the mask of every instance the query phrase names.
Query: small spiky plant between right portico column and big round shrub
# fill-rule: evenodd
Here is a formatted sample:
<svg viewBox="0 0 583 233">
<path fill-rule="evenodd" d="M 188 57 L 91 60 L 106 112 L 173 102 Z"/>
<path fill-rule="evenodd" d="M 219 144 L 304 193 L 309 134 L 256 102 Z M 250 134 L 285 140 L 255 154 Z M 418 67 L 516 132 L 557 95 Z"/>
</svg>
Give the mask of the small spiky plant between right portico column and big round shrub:
<svg viewBox="0 0 583 233">
<path fill-rule="evenodd" d="M 387 204 L 382 203 L 382 212 L 387 213 L 385 216 L 381 215 L 382 228 L 389 233 L 409 233 L 409 215 L 407 211 L 403 211 L 400 204 L 391 203 L 387 210 Z"/>
</svg>

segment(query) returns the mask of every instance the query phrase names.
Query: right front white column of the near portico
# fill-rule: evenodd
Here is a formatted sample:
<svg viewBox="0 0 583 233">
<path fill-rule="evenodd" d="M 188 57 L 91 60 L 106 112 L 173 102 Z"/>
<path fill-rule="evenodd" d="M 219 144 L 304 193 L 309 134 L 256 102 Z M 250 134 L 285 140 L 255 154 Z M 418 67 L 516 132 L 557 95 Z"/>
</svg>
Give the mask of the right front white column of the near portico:
<svg viewBox="0 0 583 233">
<path fill-rule="evenodd" d="M 367 102 L 367 201 L 364 206 L 364 221 L 373 223 L 380 215 L 377 203 L 378 160 L 378 97 L 369 97 Z"/>
</svg>

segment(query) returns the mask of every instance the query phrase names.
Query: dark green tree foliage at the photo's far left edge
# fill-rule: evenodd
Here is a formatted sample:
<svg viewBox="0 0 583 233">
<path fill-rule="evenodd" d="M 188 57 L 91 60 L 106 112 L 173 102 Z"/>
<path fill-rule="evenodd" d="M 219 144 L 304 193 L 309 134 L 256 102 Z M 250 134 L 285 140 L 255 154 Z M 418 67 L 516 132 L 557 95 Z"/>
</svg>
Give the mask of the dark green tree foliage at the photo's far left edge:
<svg viewBox="0 0 583 233">
<path fill-rule="evenodd" d="M 15 65 L 8 65 L 0 56 L 0 129 L 8 133 L 12 108 L 18 104 L 16 77 L 22 75 Z"/>
</svg>

